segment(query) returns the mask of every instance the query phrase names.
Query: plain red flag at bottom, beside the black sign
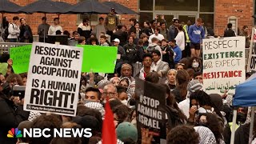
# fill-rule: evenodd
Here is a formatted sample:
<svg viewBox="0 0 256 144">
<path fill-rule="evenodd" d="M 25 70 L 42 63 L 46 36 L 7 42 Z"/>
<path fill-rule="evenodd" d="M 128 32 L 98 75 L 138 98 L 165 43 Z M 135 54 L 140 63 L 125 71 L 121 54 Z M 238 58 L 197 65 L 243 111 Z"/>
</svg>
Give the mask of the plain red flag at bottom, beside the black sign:
<svg viewBox="0 0 256 144">
<path fill-rule="evenodd" d="M 105 105 L 105 118 L 102 128 L 102 144 L 116 144 L 117 136 L 115 134 L 114 114 L 110 108 L 110 102 L 107 100 Z"/>
</svg>

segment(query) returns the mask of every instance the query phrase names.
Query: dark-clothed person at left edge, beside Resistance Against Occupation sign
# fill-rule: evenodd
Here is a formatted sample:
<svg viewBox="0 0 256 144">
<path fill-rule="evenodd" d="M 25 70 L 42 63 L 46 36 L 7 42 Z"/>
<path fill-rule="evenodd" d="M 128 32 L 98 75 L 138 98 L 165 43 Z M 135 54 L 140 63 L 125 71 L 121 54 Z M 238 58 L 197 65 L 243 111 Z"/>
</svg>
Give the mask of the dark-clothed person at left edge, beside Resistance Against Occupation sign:
<svg viewBox="0 0 256 144">
<path fill-rule="evenodd" d="M 10 74 L 8 77 L 6 83 L 0 86 L 0 143 L 13 144 L 17 139 L 7 138 L 8 130 L 18 127 L 20 122 L 27 120 L 30 112 L 23 110 L 23 99 L 17 103 L 17 98 L 10 94 L 14 84 L 22 85 L 22 78 L 18 74 Z"/>
</svg>

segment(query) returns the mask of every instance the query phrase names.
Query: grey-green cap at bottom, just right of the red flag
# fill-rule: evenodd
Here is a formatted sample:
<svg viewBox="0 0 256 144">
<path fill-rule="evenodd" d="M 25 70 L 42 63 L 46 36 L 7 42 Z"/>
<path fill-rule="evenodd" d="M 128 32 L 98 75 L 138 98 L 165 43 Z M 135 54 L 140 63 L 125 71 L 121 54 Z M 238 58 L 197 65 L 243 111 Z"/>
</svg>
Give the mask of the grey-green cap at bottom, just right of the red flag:
<svg viewBox="0 0 256 144">
<path fill-rule="evenodd" d="M 118 139 L 123 141 L 126 138 L 131 138 L 134 142 L 138 140 L 138 130 L 137 128 L 130 122 L 122 122 L 116 128 L 116 134 Z"/>
</svg>

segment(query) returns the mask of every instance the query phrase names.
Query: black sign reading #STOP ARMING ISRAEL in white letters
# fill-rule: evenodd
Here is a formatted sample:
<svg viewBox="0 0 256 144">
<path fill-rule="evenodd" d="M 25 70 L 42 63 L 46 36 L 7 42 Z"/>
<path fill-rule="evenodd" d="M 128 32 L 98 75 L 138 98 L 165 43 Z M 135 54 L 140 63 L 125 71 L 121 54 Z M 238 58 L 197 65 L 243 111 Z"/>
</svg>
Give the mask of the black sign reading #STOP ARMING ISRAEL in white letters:
<svg viewBox="0 0 256 144">
<path fill-rule="evenodd" d="M 138 135 L 143 128 L 154 134 L 154 143 L 166 139 L 166 89 L 150 82 L 136 79 L 135 86 Z"/>
</svg>

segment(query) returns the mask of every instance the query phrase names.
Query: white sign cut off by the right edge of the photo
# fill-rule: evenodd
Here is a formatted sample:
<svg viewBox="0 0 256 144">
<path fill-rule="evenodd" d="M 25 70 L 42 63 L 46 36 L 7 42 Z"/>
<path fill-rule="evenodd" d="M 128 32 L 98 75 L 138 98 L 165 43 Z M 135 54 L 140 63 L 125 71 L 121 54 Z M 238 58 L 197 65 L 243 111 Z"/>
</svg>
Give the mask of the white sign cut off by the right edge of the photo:
<svg viewBox="0 0 256 144">
<path fill-rule="evenodd" d="M 256 70 L 256 29 L 252 29 L 252 38 L 250 42 L 250 53 L 248 57 L 247 72 Z"/>
</svg>

